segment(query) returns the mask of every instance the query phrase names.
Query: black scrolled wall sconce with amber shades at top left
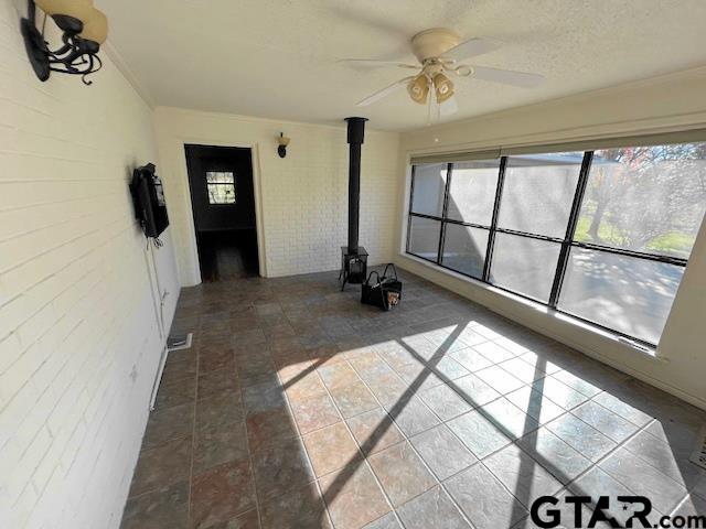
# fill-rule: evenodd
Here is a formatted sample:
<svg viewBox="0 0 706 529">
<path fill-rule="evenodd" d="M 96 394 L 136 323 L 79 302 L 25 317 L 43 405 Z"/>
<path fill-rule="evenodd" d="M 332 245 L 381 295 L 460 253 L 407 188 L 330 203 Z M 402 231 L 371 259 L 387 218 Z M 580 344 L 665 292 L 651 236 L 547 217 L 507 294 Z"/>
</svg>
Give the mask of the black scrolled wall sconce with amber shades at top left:
<svg viewBox="0 0 706 529">
<path fill-rule="evenodd" d="M 36 29 L 36 6 L 62 30 L 62 45 L 52 51 L 44 30 Z M 46 22 L 46 20 L 44 20 Z M 108 36 L 108 19 L 93 7 L 92 0 L 28 0 L 28 17 L 20 22 L 30 64 L 40 80 L 52 72 L 86 76 L 103 66 L 98 52 Z"/>
</svg>

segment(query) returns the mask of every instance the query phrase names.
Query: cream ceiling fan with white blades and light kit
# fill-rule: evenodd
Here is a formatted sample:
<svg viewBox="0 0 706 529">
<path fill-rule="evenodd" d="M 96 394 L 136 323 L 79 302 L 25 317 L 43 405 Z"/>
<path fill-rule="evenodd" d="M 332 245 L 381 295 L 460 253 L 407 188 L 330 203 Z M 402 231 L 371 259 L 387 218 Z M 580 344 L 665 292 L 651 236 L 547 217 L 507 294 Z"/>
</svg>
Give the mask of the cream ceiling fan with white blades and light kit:
<svg viewBox="0 0 706 529">
<path fill-rule="evenodd" d="M 406 87 L 411 100 L 420 105 L 426 105 L 427 101 L 431 105 L 432 99 L 429 97 L 431 93 L 439 104 L 440 114 L 447 116 L 458 110 L 454 85 L 449 75 L 459 78 L 492 80 L 525 88 L 536 86 L 544 80 L 544 77 L 538 74 L 461 64 L 468 58 L 492 52 L 501 45 L 501 42 L 490 39 L 461 41 L 461 37 L 453 30 L 435 28 L 411 37 L 411 50 L 419 64 L 368 58 L 343 58 L 340 62 L 361 66 L 397 66 L 419 71 L 415 75 L 404 77 L 367 96 L 357 102 L 359 107 L 372 105 Z"/>
</svg>

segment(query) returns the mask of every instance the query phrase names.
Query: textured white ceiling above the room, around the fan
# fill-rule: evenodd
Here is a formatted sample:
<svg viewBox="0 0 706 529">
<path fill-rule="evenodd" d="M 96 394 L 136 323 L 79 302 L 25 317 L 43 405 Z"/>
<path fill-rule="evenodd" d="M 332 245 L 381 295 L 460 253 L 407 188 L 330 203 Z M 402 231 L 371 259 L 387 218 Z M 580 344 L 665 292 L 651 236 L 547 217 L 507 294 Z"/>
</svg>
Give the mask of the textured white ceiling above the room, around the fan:
<svg viewBox="0 0 706 529">
<path fill-rule="evenodd" d="M 460 80 L 445 121 L 706 63 L 705 0 L 97 0 L 110 42 L 157 105 L 310 122 L 350 115 L 376 129 L 427 122 L 404 91 L 355 102 L 404 69 L 341 57 L 414 60 L 409 39 L 447 26 L 505 45 L 479 65 L 535 72 L 523 89 Z M 667 96 L 668 97 L 668 96 Z"/>
</svg>

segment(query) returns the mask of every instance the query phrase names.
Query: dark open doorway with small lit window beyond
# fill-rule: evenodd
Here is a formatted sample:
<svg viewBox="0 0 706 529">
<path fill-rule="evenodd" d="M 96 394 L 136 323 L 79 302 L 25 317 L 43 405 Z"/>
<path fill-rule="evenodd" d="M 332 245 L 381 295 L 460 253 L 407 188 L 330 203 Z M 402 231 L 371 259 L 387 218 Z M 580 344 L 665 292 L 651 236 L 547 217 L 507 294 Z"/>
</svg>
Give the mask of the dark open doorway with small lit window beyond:
<svg viewBox="0 0 706 529">
<path fill-rule="evenodd" d="M 259 276 L 250 149 L 184 148 L 201 280 Z"/>
</svg>

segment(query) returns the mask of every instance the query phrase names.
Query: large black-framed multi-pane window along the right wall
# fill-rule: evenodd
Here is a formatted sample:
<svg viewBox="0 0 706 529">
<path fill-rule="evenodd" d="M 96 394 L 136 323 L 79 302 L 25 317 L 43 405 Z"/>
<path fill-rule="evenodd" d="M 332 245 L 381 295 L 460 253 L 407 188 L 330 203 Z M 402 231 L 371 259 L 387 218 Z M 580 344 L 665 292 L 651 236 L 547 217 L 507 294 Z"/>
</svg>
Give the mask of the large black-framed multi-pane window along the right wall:
<svg viewBox="0 0 706 529">
<path fill-rule="evenodd" d="M 407 252 L 655 345 L 706 210 L 706 143 L 413 166 Z"/>
</svg>

